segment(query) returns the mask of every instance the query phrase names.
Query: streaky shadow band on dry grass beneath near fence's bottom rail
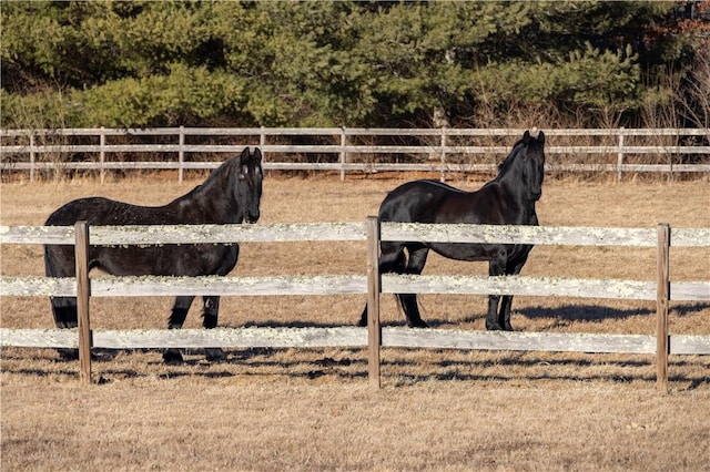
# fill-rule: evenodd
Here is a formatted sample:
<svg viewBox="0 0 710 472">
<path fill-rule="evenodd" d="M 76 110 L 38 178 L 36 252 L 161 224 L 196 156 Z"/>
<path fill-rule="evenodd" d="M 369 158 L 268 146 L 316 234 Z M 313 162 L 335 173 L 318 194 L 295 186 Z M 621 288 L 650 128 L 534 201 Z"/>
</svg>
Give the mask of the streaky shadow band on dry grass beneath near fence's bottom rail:
<svg viewBox="0 0 710 472">
<path fill-rule="evenodd" d="M 429 349 L 422 357 L 418 349 L 386 348 L 382 353 L 382 376 L 385 386 L 403 387 L 428 381 L 456 381 L 520 386 L 561 381 L 579 383 L 641 383 L 652 389 L 656 382 L 652 355 L 579 355 L 554 353 L 536 356 L 518 351 L 470 351 L 468 356 L 450 350 Z M 123 356 L 132 357 L 132 351 Z M 229 350 L 223 362 L 206 362 L 200 350 L 184 350 L 182 366 L 164 366 L 160 350 L 146 352 L 145 369 L 136 360 L 118 357 L 114 363 L 98 362 L 93 380 L 98 384 L 124 379 L 326 379 L 337 382 L 364 382 L 367 379 L 367 353 L 361 348 L 250 348 Z M 154 356 L 152 359 L 150 356 Z M 613 356 L 613 357 L 610 357 Z M 21 360 L 21 359 L 18 359 Z M 49 365 L 42 366 L 49 361 Z M 3 372 L 27 377 L 61 377 L 79 381 L 79 365 L 70 361 L 39 360 L 37 366 L 3 362 Z M 62 367 L 57 369 L 57 365 Z M 130 367 L 128 366 L 130 363 Z M 710 389 L 707 357 L 672 356 L 669 366 L 671 389 L 690 391 Z M 508 370 L 509 369 L 509 370 Z M 524 370 L 521 370 L 524 369 Z M 601 370 L 600 370 L 601 369 Z M 510 373 L 508 373 L 508 371 Z M 673 384 L 674 383 L 674 384 Z"/>
</svg>

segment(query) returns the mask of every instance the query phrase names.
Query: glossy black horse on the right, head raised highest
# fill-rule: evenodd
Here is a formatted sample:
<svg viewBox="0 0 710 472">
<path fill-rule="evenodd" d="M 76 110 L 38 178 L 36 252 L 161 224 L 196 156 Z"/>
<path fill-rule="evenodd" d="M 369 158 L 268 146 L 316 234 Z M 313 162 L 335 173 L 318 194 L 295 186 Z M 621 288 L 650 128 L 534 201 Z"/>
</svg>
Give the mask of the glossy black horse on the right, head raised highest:
<svg viewBox="0 0 710 472">
<path fill-rule="evenodd" d="M 470 223 L 480 225 L 537 225 L 535 203 L 542 194 L 545 134 L 537 138 L 525 132 L 503 164 L 498 176 L 477 192 L 464 192 L 436 181 L 409 182 L 390 192 L 379 207 L 382 222 Z M 519 274 L 532 246 L 509 244 L 456 244 L 383 242 L 381 273 L 422 274 L 429 249 L 458 260 L 488 260 L 491 276 Z M 407 249 L 407 256 L 405 256 Z M 407 322 L 425 328 L 416 294 L 397 294 Z M 513 330 L 513 296 L 488 297 L 486 328 Z M 361 326 L 367 325 L 367 307 Z"/>
</svg>

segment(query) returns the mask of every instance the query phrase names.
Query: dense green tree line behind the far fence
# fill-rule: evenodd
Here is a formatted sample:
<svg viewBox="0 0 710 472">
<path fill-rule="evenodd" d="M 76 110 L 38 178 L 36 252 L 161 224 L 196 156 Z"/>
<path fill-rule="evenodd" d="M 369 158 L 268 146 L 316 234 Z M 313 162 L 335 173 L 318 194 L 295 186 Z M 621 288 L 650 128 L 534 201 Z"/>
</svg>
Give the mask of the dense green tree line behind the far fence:
<svg viewBox="0 0 710 472">
<path fill-rule="evenodd" d="M 3 2 L 0 119 L 708 126 L 709 3 Z"/>
</svg>

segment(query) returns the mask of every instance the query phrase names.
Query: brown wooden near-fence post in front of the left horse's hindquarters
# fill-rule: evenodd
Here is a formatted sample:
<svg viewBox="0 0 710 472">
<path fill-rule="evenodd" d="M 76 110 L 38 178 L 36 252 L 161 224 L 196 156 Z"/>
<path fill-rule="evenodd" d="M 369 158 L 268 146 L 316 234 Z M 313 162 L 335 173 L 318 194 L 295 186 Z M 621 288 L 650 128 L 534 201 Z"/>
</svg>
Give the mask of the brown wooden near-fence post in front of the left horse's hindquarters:
<svg viewBox="0 0 710 472">
<path fill-rule="evenodd" d="M 82 384 L 91 383 L 91 328 L 89 325 L 89 225 L 74 225 L 74 257 L 77 261 L 77 309 L 79 316 L 79 378 Z"/>
</svg>

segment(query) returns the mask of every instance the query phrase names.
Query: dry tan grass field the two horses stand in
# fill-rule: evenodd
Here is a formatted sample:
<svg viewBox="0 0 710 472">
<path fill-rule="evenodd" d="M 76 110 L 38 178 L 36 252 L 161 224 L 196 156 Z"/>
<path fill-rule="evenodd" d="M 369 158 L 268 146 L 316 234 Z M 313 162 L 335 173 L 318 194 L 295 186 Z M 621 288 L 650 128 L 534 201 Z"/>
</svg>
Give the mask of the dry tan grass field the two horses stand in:
<svg viewBox="0 0 710 472">
<path fill-rule="evenodd" d="M 412 177 L 410 175 L 407 178 Z M 264 182 L 260 223 L 361 222 L 404 176 Z M 103 195 L 159 205 L 201 178 L 142 176 L 99 185 L 10 182 L 0 224 L 41 225 L 69 199 Z M 474 189 L 483 181 L 457 181 Z M 710 226 L 710 186 L 696 182 L 546 182 L 542 225 Z M 3 246 L 2 275 L 42 275 L 42 250 Z M 651 280 L 653 249 L 536 247 L 524 275 Z M 673 280 L 708 279 L 710 250 L 673 249 Z M 364 243 L 244 244 L 233 275 L 362 274 Z M 485 265 L 429 256 L 426 274 Z M 92 326 L 162 328 L 168 298 L 92 299 Z M 359 296 L 226 297 L 220 326 L 356 322 Z M 43 298 L 1 299 L 3 328 L 52 327 Z M 420 297 L 437 328 L 484 329 L 485 297 Z M 200 326 L 197 305 L 185 327 Z M 404 322 L 393 297 L 383 321 Z M 516 297 L 526 331 L 653 334 L 655 304 Z M 674 334 L 710 335 L 710 305 L 672 304 Z M 383 386 L 359 349 L 242 349 L 209 363 L 189 352 L 106 352 L 98 384 L 52 350 L 1 351 L 1 468 L 16 470 L 710 470 L 710 359 L 671 357 L 671 391 L 651 356 L 385 349 Z"/>
</svg>

